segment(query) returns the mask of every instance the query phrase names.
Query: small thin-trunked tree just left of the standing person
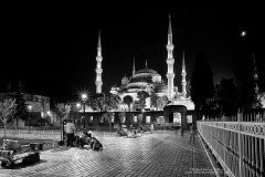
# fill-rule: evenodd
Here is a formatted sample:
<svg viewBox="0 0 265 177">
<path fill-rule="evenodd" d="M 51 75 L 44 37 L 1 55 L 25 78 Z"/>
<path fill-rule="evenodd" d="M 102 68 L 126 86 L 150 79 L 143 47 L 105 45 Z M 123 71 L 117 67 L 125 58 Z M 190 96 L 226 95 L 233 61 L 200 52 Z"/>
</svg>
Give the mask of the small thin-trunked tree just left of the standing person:
<svg viewBox="0 0 265 177">
<path fill-rule="evenodd" d="M 66 103 L 59 103 L 55 105 L 55 113 L 60 117 L 61 121 L 61 139 L 63 139 L 63 121 L 68 117 L 68 113 L 71 111 L 71 105 Z"/>
</svg>

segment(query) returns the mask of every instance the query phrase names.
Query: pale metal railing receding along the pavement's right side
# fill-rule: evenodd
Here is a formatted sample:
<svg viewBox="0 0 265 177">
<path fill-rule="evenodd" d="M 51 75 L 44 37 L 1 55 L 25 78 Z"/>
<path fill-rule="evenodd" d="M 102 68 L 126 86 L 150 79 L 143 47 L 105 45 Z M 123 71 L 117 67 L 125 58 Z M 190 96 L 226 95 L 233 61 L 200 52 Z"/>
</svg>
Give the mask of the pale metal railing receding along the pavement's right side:
<svg viewBox="0 0 265 177">
<path fill-rule="evenodd" d="M 265 176 L 265 122 L 261 114 L 253 115 L 251 122 L 241 122 L 243 114 L 237 122 L 197 122 L 198 132 L 227 176 Z"/>
</svg>

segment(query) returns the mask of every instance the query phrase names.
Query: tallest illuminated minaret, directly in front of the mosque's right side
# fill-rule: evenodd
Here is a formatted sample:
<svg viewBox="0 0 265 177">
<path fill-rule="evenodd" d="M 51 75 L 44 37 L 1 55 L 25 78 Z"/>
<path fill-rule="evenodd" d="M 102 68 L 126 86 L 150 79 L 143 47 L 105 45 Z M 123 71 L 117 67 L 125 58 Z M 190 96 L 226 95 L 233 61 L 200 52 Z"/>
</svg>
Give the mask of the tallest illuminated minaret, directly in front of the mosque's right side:
<svg viewBox="0 0 265 177">
<path fill-rule="evenodd" d="M 168 64 L 168 98 L 169 101 L 173 100 L 173 79 L 174 79 L 174 73 L 173 73 L 173 43 L 172 43 L 172 29 L 171 29 L 171 19 L 169 15 L 169 29 L 168 29 L 168 44 L 167 44 L 167 50 L 168 50 L 168 59 L 167 59 L 167 64 Z"/>
</svg>

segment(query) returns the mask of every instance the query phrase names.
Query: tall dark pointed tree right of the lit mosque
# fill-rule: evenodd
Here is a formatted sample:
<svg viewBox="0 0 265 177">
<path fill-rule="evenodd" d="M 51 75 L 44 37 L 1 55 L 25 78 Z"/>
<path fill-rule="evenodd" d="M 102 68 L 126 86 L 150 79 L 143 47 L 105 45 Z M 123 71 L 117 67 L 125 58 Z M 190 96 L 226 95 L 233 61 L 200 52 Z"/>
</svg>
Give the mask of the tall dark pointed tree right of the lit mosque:
<svg viewBox="0 0 265 177">
<path fill-rule="evenodd" d="M 191 100 L 195 111 L 205 114 L 208 100 L 213 98 L 213 72 L 204 53 L 197 53 L 195 65 L 191 75 Z"/>
</svg>

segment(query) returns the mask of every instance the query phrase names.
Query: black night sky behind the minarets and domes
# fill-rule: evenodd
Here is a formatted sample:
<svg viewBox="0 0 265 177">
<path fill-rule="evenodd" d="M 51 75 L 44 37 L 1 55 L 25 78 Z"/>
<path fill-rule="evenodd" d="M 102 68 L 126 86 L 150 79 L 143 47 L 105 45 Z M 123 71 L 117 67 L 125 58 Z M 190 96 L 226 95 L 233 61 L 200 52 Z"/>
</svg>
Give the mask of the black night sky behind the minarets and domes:
<svg viewBox="0 0 265 177">
<path fill-rule="evenodd" d="M 78 92 L 95 93 L 98 31 L 103 46 L 103 91 L 120 85 L 121 77 L 148 67 L 167 73 L 168 17 L 171 14 L 174 44 L 174 83 L 180 87 L 182 52 L 187 80 L 195 53 L 203 51 L 214 82 L 237 77 L 255 53 L 259 79 L 265 81 L 264 10 L 262 6 L 170 8 L 97 8 L 36 6 L 8 8 L 2 21 L 1 91 L 8 82 L 23 81 L 23 91 L 72 100 Z M 261 7 L 261 8 L 259 8 Z M 131 8 L 131 7 L 130 7 Z M 247 31 L 241 38 L 242 30 Z"/>
</svg>

